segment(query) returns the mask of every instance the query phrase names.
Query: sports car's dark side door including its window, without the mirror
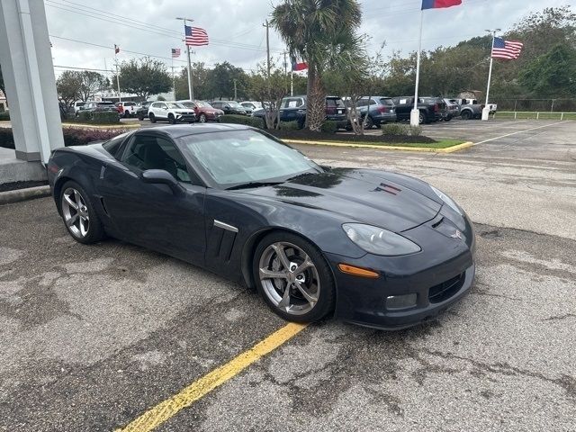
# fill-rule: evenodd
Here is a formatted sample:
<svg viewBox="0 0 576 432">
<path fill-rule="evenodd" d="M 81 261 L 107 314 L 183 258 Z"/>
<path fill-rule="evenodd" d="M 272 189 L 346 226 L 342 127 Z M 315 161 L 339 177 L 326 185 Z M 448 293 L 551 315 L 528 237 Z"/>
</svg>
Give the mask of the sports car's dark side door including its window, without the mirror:
<svg viewBox="0 0 576 432">
<path fill-rule="evenodd" d="M 203 266 L 205 251 L 204 196 L 206 188 L 187 166 L 171 139 L 135 133 L 119 164 L 103 167 L 103 207 L 122 239 Z M 164 169 L 183 187 L 175 193 L 166 184 L 147 184 L 147 169 Z"/>
</svg>

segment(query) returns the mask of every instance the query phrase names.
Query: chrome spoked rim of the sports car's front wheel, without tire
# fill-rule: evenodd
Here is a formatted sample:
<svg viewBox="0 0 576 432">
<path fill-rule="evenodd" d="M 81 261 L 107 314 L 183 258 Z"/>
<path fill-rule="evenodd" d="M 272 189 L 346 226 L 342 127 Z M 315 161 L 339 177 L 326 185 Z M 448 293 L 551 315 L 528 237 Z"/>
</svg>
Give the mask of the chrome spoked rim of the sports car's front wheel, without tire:
<svg viewBox="0 0 576 432">
<path fill-rule="evenodd" d="M 278 309 L 303 315 L 318 302 L 320 276 L 302 248 L 292 243 L 273 243 L 262 253 L 258 267 L 264 292 Z"/>
</svg>

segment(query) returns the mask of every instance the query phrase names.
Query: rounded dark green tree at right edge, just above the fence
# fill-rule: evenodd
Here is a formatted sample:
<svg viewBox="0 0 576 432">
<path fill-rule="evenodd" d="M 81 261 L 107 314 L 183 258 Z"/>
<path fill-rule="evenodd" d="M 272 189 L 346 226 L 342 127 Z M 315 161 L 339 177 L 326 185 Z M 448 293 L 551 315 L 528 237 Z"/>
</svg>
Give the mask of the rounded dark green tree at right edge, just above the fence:
<svg viewBox="0 0 576 432">
<path fill-rule="evenodd" d="M 576 95 L 576 49 L 565 43 L 528 63 L 519 82 L 532 94 L 546 97 Z"/>
</svg>

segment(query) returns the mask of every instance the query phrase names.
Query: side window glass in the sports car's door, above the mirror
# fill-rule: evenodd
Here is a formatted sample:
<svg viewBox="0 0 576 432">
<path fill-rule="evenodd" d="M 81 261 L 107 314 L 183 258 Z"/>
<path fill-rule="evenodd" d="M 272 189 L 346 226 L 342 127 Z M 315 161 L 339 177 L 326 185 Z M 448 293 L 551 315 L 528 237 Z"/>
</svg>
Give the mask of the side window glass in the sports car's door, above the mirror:
<svg viewBox="0 0 576 432">
<path fill-rule="evenodd" d="M 179 182 L 192 183 L 184 157 L 168 139 L 137 135 L 128 145 L 122 162 L 138 171 L 163 169 Z"/>
</svg>

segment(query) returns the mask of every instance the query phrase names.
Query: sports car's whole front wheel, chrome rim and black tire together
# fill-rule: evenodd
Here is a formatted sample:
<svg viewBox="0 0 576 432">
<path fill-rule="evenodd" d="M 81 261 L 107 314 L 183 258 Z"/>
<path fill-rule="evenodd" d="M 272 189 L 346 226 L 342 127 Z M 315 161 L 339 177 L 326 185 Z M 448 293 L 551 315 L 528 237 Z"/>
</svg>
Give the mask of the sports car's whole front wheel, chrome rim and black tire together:
<svg viewBox="0 0 576 432">
<path fill-rule="evenodd" d="M 334 278 L 320 250 L 291 233 L 268 234 L 258 244 L 254 278 L 266 304 L 284 320 L 313 322 L 334 310 Z"/>
</svg>

